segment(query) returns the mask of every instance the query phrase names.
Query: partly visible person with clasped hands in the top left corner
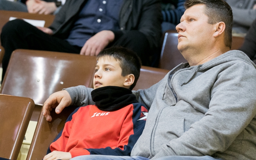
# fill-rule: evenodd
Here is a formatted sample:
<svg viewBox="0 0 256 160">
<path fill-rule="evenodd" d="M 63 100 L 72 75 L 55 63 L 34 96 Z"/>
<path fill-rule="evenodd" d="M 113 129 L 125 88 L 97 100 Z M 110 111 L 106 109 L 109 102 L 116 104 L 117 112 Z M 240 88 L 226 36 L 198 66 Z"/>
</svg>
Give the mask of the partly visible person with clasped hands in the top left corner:
<svg viewBox="0 0 256 160">
<path fill-rule="evenodd" d="M 63 4 L 64 3 L 65 1 L 63 1 Z M 55 15 L 63 4 L 61 1 L 57 0 L 21 0 L 15 2 L 9 0 L 0 0 L 0 10 Z"/>
</svg>

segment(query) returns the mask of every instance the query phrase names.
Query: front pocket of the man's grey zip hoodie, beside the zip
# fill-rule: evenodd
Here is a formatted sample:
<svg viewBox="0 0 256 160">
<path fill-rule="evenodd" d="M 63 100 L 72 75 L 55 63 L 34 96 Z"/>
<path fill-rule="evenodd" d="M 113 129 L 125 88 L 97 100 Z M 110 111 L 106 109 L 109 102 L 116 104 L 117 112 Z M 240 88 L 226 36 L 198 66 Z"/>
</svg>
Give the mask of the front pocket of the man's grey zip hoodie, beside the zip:
<svg viewBox="0 0 256 160">
<path fill-rule="evenodd" d="M 162 111 L 155 134 L 153 135 L 153 155 L 161 150 L 161 146 L 169 143 L 170 140 L 180 137 L 184 133 L 185 118 L 172 118 L 170 114 Z"/>
</svg>

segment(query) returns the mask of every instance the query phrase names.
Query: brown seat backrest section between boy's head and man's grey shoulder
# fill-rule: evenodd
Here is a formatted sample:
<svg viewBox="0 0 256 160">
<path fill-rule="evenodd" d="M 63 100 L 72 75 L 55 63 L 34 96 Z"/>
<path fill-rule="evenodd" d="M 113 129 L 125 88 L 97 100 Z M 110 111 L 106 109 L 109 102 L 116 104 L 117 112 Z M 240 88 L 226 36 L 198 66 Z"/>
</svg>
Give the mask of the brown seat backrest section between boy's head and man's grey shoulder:
<svg viewBox="0 0 256 160">
<path fill-rule="evenodd" d="M 140 77 L 133 90 L 147 89 L 159 82 L 169 72 L 166 69 L 142 66 L 140 69 Z"/>
</svg>

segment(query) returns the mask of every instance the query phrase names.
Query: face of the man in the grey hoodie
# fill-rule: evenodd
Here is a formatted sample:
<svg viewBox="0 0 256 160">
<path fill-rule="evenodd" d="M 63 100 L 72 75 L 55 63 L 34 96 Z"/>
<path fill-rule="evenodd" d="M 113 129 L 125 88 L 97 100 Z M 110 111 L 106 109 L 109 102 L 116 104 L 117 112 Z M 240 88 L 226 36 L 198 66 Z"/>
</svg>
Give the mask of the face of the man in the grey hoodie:
<svg viewBox="0 0 256 160">
<path fill-rule="evenodd" d="M 208 16 L 204 14 L 204 10 L 203 4 L 188 8 L 181 17 L 180 24 L 176 26 L 179 33 L 178 50 L 181 53 L 187 49 L 203 49 L 212 40 L 214 27 L 208 23 Z M 189 55 L 183 56 L 186 58 Z"/>
</svg>

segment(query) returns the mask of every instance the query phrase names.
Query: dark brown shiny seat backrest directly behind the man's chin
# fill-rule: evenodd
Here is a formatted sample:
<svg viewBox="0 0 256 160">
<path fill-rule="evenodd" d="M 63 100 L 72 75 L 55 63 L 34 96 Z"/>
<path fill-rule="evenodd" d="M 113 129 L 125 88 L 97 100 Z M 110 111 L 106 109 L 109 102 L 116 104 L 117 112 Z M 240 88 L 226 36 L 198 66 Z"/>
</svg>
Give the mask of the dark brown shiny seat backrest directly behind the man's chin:
<svg viewBox="0 0 256 160">
<path fill-rule="evenodd" d="M 178 33 L 177 31 L 166 31 L 162 44 L 159 68 L 171 70 L 181 63 L 187 62 L 177 48 Z"/>
</svg>

